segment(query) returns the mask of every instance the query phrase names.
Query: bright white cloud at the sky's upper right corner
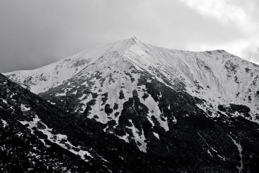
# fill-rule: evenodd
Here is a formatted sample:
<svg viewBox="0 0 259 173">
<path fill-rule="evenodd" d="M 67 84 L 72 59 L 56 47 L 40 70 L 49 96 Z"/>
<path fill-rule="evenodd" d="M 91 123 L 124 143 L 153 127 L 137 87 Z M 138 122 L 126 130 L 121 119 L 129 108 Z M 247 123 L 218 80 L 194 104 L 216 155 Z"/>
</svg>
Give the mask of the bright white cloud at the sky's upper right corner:
<svg viewBox="0 0 259 173">
<path fill-rule="evenodd" d="M 258 20 L 246 13 L 245 9 L 236 5 L 237 1 L 231 0 L 180 0 L 204 17 L 211 17 L 224 25 L 238 27 L 243 33 L 240 38 L 230 40 L 223 44 L 189 45 L 189 48 L 211 50 L 215 47 L 222 48 L 241 58 L 259 64 L 259 24 Z"/>
</svg>

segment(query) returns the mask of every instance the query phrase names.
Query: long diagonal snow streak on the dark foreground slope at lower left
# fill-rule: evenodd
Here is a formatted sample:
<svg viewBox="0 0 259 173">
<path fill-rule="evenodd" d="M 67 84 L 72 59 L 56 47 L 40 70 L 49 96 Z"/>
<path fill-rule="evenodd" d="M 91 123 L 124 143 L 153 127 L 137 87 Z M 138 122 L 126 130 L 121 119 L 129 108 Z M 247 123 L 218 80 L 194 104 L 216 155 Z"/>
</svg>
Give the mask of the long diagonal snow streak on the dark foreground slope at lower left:
<svg viewBox="0 0 259 173">
<path fill-rule="evenodd" d="M 23 125 L 29 124 L 29 126 L 27 128 L 31 129 L 31 133 L 33 133 L 32 128 L 37 127 L 37 123 L 42 123 L 42 122 L 39 119 L 39 117 L 37 115 L 35 115 L 35 118 L 33 118 L 33 121 L 30 121 L 30 122 L 20 121 L 20 123 L 22 123 Z M 77 152 L 77 151 L 74 151 L 73 149 L 68 149 L 65 146 L 65 144 L 68 144 L 69 146 L 73 146 L 73 145 L 69 141 L 67 141 L 66 135 L 62 135 L 62 134 L 54 135 L 54 134 L 51 133 L 52 129 L 49 129 L 44 123 L 42 123 L 42 124 L 46 127 L 46 129 L 38 129 L 38 130 L 42 131 L 45 135 L 47 135 L 48 140 L 50 140 L 51 142 L 54 142 L 54 143 L 58 144 L 62 148 L 65 148 L 65 149 L 69 150 L 70 152 L 72 152 L 76 155 L 78 154 L 85 161 L 87 161 L 87 160 L 85 159 L 84 155 L 92 157 L 88 151 L 83 151 L 83 150 L 80 149 L 80 151 Z M 66 141 L 66 142 L 61 143 L 62 140 Z M 41 141 L 43 141 L 43 140 L 41 140 Z M 43 143 L 45 144 L 45 142 L 43 142 Z M 75 148 L 77 148 L 77 147 L 75 147 Z M 78 148 L 80 148 L 80 146 Z"/>
</svg>

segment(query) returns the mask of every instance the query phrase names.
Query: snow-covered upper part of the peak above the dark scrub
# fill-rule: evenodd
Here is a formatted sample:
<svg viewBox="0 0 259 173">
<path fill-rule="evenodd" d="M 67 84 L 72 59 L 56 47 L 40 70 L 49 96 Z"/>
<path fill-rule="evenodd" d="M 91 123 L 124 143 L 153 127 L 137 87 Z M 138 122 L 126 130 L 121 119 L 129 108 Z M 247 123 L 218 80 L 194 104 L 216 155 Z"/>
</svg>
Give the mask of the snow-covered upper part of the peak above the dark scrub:
<svg viewBox="0 0 259 173">
<path fill-rule="evenodd" d="M 80 86 L 87 86 L 89 92 L 97 93 L 99 97 L 100 94 L 108 92 L 108 101 L 111 105 L 118 101 L 115 97 L 118 96 L 118 90 L 124 91 L 126 100 L 132 96 L 132 91 L 140 78 L 137 71 L 148 73 L 152 78 L 176 91 L 185 91 L 192 96 L 205 99 L 206 107 L 212 105 L 213 108 L 217 108 L 219 104 L 246 105 L 250 108 L 250 119 L 257 121 L 255 114 L 259 107 L 256 93 L 259 90 L 259 66 L 224 50 L 172 50 L 153 46 L 132 37 L 96 46 L 39 69 L 15 71 L 4 75 L 33 93 L 53 92 L 55 97 L 66 96 L 68 93 L 81 96 L 77 94 L 82 91 Z M 89 85 L 86 81 L 95 84 Z M 89 94 L 86 94 L 77 98 L 85 104 L 91 99 L 88 96 Z M 86 104 L 75 109 L 80 108 L 82 112 Z M 216 116 L 217 110 L 213 108 L 209 111 L 212 112 L 211 116 Z"/>
</svg>

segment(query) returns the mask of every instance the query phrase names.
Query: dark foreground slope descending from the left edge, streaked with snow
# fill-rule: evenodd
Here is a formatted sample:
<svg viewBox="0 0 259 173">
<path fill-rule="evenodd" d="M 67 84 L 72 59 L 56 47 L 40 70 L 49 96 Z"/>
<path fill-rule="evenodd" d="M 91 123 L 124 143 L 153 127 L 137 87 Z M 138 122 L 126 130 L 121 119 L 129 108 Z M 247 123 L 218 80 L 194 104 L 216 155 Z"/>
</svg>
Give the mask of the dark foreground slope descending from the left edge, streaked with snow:
<svg viewBox="0 0 259 173">
<path fill-rule="evenodd" d="M 2 74 L 0 119 L 3 172 L 148 172 L 152 169 L 144 167 L 153 161 L 140 151 L 118 138 L 92 130 L 87 121 L 79 121 L 59 110 Z M 132 160 L 135 156 L 139 159 Z"/>
</svg>

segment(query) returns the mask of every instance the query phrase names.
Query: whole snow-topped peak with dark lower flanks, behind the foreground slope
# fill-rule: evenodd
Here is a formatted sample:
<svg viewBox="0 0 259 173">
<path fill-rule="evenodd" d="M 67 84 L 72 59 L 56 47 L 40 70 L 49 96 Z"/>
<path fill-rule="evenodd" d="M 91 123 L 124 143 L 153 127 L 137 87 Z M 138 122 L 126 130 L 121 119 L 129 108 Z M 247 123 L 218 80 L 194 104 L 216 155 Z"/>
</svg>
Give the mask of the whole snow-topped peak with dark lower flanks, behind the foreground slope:
<svg viewBox="0 0 259 173">
<path fill-rule="evenodd" d="M 132 37 L 4 75 L 76 121 L 79 139 L 94 132 L 107 139 L 100 146 L 129 147 L 124 154 L 134 160 L 136 152 L 145 172 L 253 172 L 258 74 L 258 65 L 224 50 L 172 50 Z M 143 168 L 148 162 L 155 168 Z"/>
</svg>

